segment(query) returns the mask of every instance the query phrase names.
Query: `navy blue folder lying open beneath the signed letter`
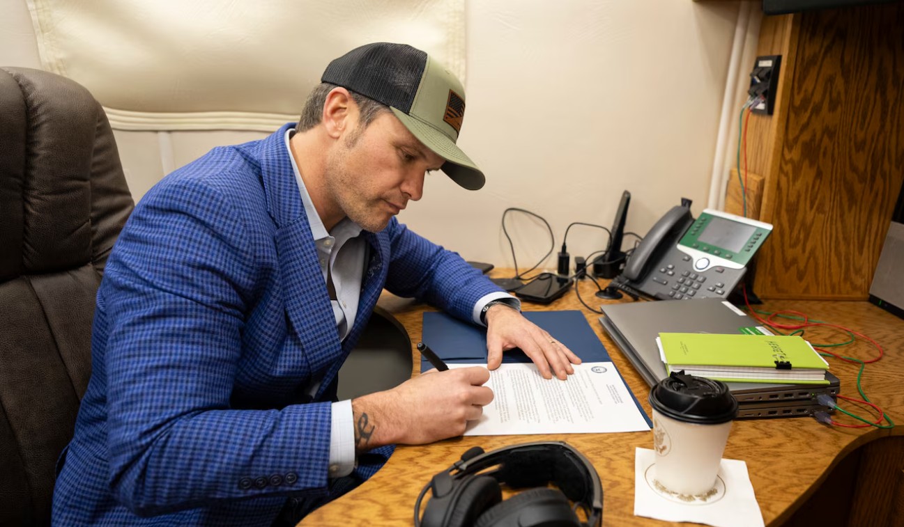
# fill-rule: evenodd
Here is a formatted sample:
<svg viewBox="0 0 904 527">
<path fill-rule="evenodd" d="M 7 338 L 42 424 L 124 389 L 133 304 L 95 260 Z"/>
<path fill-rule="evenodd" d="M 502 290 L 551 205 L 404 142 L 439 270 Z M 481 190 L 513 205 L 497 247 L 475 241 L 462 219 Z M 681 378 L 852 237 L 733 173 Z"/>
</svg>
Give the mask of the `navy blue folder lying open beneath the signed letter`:
<svg viewBox="0 0 904 527">
<path fill-rule="evenodd" d="M 537 326 L 549 331 L 553 338 L 569 347 L 585 363 L 611 362 L 606 347 L 599 341 L 599 337 L 593 332 L 593 328 L 590 328 L 584 314 L 579 310 L 524 311 L 523 315 Z M 424 312 L 422 340 L 444 362 L 486 364 L 486 329 L 453 319 L 446 313 Z M 529 362 L 531 359 L 520 349 L 510 349 L 503 353 L 503 363 Z M 424 372 L 432 367 L 433 365 L 422 356 L 420 371 Z M 618 376 L 621 374 L 619 373 Z M 622 382 L 624 382 L 624 378 Z M 627 393 L 631 394 L 637 410 L 644 416 L 647 424 L 653 426 L 630 388 L 627 389 Z"/>
</svg>

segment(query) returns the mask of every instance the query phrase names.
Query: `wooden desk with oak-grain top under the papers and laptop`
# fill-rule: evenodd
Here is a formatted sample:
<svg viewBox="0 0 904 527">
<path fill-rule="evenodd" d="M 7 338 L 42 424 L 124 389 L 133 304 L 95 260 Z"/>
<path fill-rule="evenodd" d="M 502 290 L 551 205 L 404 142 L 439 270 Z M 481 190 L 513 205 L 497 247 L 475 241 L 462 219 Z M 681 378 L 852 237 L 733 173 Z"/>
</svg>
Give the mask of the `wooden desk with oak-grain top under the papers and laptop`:
<svg viewBox="0 0 904 527">
<path fill-rule="evenodd" d="M 631 301 L 600 300 L 593 295 L 596 286 L 589 281 L 579 284 L 581 298 L 589 305 L 603 302 Z M 421 336 L 422 313 L 433 310 L 411 300 L 384 293 L 380 305 L 391 312 L 408 330 L 411 340 Z M 549 306 L 523 303 L 524 310 L 581 310 L 606 346 L 612 361 L 625 377 L 627 386 L 636 394 L 650 414 L 647 402 L 649 387 L 636 373 L 617 346 L 607 337 L 598 322 L 599 315 L 584 308 L 576 294 L 570 292 Z M 863 388 L 872 402 L 880 405 L 899 423 L 893 430 L 844 429 L 826 427 L 812 418 L 737 421 L 734 423 L 725 448 L 724 457 L 747 462 L 750 480 L 763 518 L 767 525 L 805 524 L 815 513 L 825 510 L 840 525 L 845 516 L 850 524 L 891 525 L 900 522 L 904 513 L 904 393 L 901 378 L 904 374 L 904 321 L 862 301 L 791 301 L 767 302 L 763 309 L 796 309 L 811 318 L 848 328 L 875 339 L 885 348 L 885 358 L 867 365 Z M 805 337 L 814 342 L 841 342 L 843 335 L 827 329 L 808 329 Z M 858 342 L 843 347 L 847 356 L 870 358 L 875 348 Z M 417 351 L 412 349 L 413 354 Z M 420 361 L 416 356 L 415 369 Z M 842 381 L 842 393 L 859 398 L 856 390 L 857 366 L 829 359 L 832 371 Z M 851 411 L 866 416 L 865 411 L 845 405 Z M 838 416 L 843 422 L 853 422 Z M 423 446 L 399 446 L 385 467 L 370 481 L 348 495 L 327 504 L 310 514 L 302 525 L 410 525 L 413 505 L 420 489 L 430 477 L 454 463 L 466 449 L 480 446 L 489 451 L 507 445 L 535 440 L 562 440 L 579 448 L 597 467 L 604 489 L 603 523 L 605 525 L 650 525 L 667 522 L 654 521 L 634 515 L 635 448 L 652 448 L 652 432 L 613 434 L 551 434 L 543 436 L 494 436 L 447 439 Z M 855 452 L 856 451 L 856 452 Z M 854 452 L 855 456 L 848 456 Z M 853 462 L 843 460 L 854 459 Z M 850 482 L 823 499 L 830 501 L 827 509 L 813 506 L 807 509 L 811 496 L 819 497 L 824 480 L 833 468 L 844 467 L 844 482 Z M 841 494 L 841 495 L 839 495 Z M 845 497 L 846 496 L 846 497 Z M 878 503 L 877 503 L 878 496 Z M 843 503 L 846 502 L 846 503 Z M 798 508 L 808 511 L 805 518 L 795 517 Z M 896 519 L 897 518 L 897 519 Z M 812 523 L 811 523 L 812 524 Z M 899 524 L 899 523 L 898 523 Z M 688 523 L 688 525 L 691 525 Z"/>
</svg>

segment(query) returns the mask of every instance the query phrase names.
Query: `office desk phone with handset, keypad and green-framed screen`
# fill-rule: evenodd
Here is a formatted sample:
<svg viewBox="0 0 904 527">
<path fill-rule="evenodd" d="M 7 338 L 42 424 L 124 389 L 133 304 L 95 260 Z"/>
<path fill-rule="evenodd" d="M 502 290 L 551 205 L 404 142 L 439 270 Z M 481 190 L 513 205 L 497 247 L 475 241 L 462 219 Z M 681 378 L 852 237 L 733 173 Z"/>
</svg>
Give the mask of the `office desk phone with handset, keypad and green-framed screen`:
<svg viewBox="0 0 904 527">
<path fill-rule="evenodd" d="M 707 208 L 676 206 L 655 223 L 612 285 L 657 300 L 726 298 L 772 226 Z"/>
</svg>

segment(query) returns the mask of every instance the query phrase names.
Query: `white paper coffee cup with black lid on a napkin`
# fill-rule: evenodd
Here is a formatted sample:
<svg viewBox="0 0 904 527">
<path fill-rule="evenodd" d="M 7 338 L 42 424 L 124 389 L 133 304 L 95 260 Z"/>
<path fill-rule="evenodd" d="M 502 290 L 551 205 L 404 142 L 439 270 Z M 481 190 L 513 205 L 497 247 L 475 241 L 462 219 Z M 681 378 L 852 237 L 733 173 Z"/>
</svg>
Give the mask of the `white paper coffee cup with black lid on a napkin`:
<svg viewBox="0 0 904 527">
<path fill-rule="evenodd" d="M 738 401 L 720 381 L 673 372 L 650 391 L 654 480 L 678 495 L 706 495 L 716 484 Z M 657 486 L 658 486 L 657 485 Z"/>
</svg>

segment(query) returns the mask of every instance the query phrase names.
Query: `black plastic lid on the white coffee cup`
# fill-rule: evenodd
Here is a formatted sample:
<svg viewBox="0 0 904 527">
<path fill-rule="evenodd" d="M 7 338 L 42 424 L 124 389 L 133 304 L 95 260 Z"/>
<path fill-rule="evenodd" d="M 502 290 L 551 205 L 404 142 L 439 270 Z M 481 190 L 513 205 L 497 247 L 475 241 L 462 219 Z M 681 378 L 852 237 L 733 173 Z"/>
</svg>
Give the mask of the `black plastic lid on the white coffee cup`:
<svg viewBox="0 0 904 527">
<path fill-rule="evenodd" d="M 738 401 L 720 381 L 672 372 L 650 390 L 650 405 L 675 421 L 720 424 L 738 416 Z"/>
</svg>

